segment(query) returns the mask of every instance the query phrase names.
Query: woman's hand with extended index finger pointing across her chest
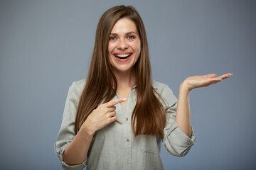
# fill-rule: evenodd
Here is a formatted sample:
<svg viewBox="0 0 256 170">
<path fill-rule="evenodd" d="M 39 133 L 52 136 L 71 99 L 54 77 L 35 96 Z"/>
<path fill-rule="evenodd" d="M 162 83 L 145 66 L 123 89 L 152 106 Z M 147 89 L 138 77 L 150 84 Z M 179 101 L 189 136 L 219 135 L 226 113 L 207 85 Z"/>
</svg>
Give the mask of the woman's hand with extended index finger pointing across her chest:
<svg viewBox="0 0 256 170">
<path fill-rule="evenodd" d="M 82 124 L 82 129 L 85 128 L 86 131 L 90 131 L 94 134 L 97 130 L 104 128 L 106 125 L 117 120 L 116 107 L 114 105 L 126 101 L 127 98 L 118 98 L 107 103 L 100 104 L 95 110 L 90 113 L 85 123 Z"/>
</svg>

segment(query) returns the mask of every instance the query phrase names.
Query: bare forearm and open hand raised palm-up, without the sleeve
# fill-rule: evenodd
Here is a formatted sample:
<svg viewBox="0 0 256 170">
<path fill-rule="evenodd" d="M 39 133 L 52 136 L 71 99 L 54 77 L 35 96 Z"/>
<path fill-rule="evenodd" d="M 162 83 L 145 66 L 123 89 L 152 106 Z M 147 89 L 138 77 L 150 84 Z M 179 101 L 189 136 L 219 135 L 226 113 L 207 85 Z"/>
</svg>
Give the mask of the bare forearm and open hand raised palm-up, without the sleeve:
<svg viewBox="0 0 256 170">
<path fill-rule="evenodd" d="M 185 79 L 180 87 L 178 94 L 178 106 L 176 111 L 176 123 L 186 133 L 188 137 L 191 137 L 191 115 L 189 108 L 189 91 L 192 89 L 209 86 L 210 84 L 218 83 L 223 79 L 231 77 L 233 74 L 223 74 L 220 77 L 216 77 L 216 74 L 207 74 L 204 76 L 193 76 Z"/>
</svg>

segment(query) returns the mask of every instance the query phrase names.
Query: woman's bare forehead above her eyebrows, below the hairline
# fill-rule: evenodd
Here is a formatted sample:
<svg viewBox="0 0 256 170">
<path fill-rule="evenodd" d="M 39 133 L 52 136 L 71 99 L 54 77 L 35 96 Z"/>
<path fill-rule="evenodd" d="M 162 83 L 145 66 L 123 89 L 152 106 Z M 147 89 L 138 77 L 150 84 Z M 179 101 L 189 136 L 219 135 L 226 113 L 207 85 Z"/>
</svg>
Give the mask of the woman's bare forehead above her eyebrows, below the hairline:
<svg viewBox="0 0 256 170">
<path fill-rule="evenodd" d="M 135 23 L 129 18 L 121 18 L 117 21 L 117 23 L 114 24 L 111 33 L 122 34 L 131 31 L 137 33 L 137 27 Z"/>
</svg>

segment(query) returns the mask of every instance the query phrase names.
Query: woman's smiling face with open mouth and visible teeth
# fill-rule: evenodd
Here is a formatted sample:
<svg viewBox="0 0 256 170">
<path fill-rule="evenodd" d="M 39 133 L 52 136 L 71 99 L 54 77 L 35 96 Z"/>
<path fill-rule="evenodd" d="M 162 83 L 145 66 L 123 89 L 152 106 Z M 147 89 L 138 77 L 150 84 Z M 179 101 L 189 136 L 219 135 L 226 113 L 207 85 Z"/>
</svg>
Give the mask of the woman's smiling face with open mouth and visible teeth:
<svg viewBox="0 0 256 170">
<path fill-rule="evenodd" d="M 135 23 L 121 18 L 110 33 L 108 45 L 110 64 L 114 72 L 130 72 L 141 52 L 141 42 Z"/>
</svg>

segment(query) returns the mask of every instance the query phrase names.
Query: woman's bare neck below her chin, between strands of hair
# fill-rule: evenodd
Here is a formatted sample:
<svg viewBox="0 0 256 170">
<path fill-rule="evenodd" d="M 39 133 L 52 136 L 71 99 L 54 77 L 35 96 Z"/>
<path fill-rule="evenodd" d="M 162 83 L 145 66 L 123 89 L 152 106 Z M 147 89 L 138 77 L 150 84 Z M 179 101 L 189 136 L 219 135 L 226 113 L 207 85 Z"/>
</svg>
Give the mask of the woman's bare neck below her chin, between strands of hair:
<svg viewBox="0 0 256 170">
<path fill-rule="evenodd" d="M 136 84 L 134 69 L 130 69 L 127 72 L 119 72 L 114 70 L 114 76 L 117 78 L 118 87 L 132 88 Z"/>
</svg>

